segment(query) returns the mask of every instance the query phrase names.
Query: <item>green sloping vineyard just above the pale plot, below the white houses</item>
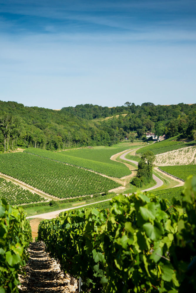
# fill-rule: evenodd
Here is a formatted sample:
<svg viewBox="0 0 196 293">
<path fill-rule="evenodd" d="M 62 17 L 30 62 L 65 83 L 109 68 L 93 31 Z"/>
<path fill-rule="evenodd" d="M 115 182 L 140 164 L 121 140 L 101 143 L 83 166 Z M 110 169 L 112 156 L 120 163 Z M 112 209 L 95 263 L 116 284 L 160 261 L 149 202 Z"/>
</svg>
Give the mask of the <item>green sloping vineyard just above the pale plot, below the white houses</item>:
<svg viewBox="0 0 196 293">
<path fill-rule="evenodd" d="M 177 141 L 171 140 L 176 138 L 177 137 L 172 137 L 162 142 L 155 142 L 154 144 L 143 147 L 142 149 L 138 149 L 136 151 L 136 154 L 143 154 L 145 151 L 153 151 L 153 153 L 156 155 L 156 154 L 165 153 L 167 151 L 173 151 L 175 149 L 180 149 L 180 148 L 190 147 L 192 145 L 195 145 L 195 141 L 185 143 L 185 142 L 177 142 Z"/>
</svg>

